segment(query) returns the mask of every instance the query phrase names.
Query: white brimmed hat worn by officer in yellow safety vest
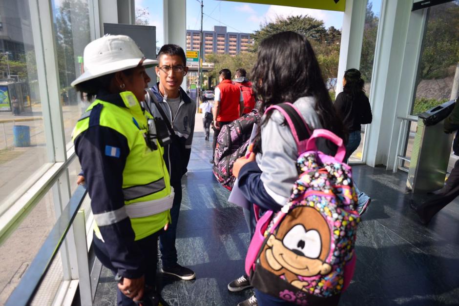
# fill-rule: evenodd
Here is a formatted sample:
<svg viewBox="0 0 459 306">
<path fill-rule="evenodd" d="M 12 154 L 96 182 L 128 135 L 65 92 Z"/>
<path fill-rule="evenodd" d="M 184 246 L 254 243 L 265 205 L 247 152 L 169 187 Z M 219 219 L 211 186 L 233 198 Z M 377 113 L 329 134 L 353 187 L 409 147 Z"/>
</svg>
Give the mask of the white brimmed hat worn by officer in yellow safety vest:
<svg viewBox="0 0 459 306">
<path fill-rule="evenodd" d="M 145 59 L 137 44 L 125 35 L 105 35 L 91 41 L 84 48 L 84 73 L 71 83 L 72 86 L 113 72 L 139 65 L 157 64 Z"/>
</svg>

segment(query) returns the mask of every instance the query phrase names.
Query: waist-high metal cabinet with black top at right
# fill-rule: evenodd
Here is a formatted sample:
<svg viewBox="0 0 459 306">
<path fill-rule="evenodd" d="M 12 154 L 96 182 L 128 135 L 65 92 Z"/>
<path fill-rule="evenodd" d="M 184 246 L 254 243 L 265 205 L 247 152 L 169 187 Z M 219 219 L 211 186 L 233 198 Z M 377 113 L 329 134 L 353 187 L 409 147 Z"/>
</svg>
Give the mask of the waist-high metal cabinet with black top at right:
<svg viewBox="0 0 459 306">
<path fill-rule="evenodd" d="M 416 192 L 443 187 L 451 154 L 453 134 L 445 134 L 443 120 L 455 101 L 448 101 L 419 115 L 406 185 Z"/>
</svg>

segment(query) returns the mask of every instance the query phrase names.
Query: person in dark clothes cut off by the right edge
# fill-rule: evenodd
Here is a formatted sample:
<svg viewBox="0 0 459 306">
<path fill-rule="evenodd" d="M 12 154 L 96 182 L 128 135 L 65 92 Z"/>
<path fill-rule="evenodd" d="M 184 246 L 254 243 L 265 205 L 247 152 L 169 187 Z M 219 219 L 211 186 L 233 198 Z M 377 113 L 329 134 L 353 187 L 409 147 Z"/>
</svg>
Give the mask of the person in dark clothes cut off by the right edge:
<svg viewBox="0 0 459 306">
<path fill-rule="evenodd" d="M 457 101 L 457 99 L 456 99 Z M 459 130 L 459 106 L 456 102 L 453 111 L 444 121 L 444 132 L 453 133 Z M 453 142 L 454 155 L 459 156 L 459 138 L 458 133 Z M 430 220 L 446 205 L 459 196 L 459 160 L 454 164 L 451 173 L 446 180 L 446 184 L 440 190 L 434 191 L 435 198 L 417 204 L 413 200 L 410 201 L 411 208 L 417 213 L 422 224 L 428 224 Z"/>
</svg>

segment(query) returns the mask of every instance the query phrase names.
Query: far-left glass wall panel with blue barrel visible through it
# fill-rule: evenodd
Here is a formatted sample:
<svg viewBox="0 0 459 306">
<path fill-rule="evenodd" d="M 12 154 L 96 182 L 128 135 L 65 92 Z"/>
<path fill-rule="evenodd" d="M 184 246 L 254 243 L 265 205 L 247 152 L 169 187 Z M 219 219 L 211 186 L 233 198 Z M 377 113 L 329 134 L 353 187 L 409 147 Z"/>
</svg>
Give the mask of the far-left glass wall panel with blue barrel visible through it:
<svg viewBox="0 0 459 306">
<path fill-rule="evenodd" d="M 0 1 L 0 212 L 50 162 L 46 155 L 34 34 L 27 0 Z M 34 31 L 32 29 L 34 28 Z M 34 33 L 33 33 L 34 32 Z M 20 190 L 22 189 L 22 190 Z"/>
</svg>

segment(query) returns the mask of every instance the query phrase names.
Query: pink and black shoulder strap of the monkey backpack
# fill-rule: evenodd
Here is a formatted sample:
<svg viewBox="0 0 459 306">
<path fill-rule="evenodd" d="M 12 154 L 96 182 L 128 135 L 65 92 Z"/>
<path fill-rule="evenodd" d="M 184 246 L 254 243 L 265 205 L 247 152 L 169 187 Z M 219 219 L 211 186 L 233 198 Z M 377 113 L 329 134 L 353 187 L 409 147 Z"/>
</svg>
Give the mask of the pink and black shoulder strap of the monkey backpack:
<svg viewBox="0 0 459 306">
<path fill-rule="evenodd" d="M 290 130 L 292 131 L 298 149 L 298 155 L 306 151 L 306 144 L 312 133 L 300 111 L 292 103 L 285 102 L 271 105 L 266 109 L 265 114 L 272 109 L 280 111 L 287 120 L 287 123 L 289 123 Z"/>
</svg>

